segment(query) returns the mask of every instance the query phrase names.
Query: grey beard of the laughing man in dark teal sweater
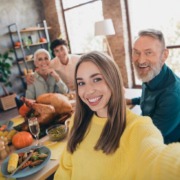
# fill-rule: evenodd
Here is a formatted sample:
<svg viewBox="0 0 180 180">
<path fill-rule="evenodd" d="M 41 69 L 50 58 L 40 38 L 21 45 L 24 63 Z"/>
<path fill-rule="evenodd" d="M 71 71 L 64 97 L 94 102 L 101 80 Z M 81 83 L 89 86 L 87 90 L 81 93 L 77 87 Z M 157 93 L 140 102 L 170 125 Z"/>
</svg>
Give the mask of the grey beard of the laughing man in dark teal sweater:
<svg viewBox="0 0 180 180">
<path fill-rule="evenodd" d="M 162 68 L 162 61 L 160 61 L 155 67 L 153 67 L 151 64 L 148 64 L 150 70 L 147 74 L 140 74 L 138 67 L 139 63 L 133 63 L 133 66 L 138 79 L 140 79 L 142 82 L 149 82 L 160 73 Z"/>
</svg>

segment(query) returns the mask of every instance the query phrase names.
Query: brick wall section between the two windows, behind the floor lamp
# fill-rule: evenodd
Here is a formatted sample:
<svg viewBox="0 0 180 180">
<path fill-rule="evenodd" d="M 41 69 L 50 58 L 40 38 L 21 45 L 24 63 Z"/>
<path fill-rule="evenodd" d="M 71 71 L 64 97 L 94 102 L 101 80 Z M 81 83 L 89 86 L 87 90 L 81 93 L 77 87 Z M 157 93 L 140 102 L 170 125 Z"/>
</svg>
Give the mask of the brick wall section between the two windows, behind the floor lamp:
<svg viewBox="0 0 180 180">
<path fill-rule="evenodd" d="M 124 86 L 129 87 L 132 84 L 132 77 L 129 76 L 127 70 L 129 69 L 129 61 L 128 54 L 125 53 L 125 48 L 128 48 L 124 41 L 124 23 L 123 22 L 123 14 L 122 9 L 124 6 L 121 4 L 120 0 L 103 0 L 103 15 L 104 18 L 110 18 L 113 21 L 115 35 L 108 37 L 108 42 L 111 47 L 111 51 L 114 57 L 114 60 L 118 64 L 123 81 Z"/>
</svg>

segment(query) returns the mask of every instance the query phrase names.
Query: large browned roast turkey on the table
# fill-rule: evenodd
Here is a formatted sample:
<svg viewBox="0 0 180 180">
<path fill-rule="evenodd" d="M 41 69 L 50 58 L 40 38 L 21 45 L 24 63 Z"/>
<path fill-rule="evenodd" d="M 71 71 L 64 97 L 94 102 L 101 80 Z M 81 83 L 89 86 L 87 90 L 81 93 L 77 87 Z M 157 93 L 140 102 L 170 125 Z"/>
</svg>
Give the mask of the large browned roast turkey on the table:
<svg viewBox="0 0 180 180">
<path fill-rule="evenodd" d="M 23 98 L 28 107 L 34 110 L 40 124 L 48 124 L 55 117 L 66 119 L 70 117 L 73 110 L 68 98 L 58 93 L 46 93 L 40 95 L 36 101 Z"/>
</svg>

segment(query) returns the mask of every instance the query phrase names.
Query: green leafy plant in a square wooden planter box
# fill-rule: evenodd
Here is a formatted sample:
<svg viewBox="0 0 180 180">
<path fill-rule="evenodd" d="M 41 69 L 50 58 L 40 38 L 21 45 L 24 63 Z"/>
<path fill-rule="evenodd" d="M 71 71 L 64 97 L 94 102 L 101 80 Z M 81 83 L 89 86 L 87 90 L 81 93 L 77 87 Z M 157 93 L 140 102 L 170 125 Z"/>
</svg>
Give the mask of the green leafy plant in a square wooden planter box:
<svg viewBox="0 0 180 180">
<path fill-rule="evenodd" d="M 13 50 L 8 50 L 4 53 L 0 53 L 0 86 L 4 92 L 4 95 L 0 97 L 0 107 L 3 110 L 16 107 L 15 94 L 10 94 L 7 90 L 7 86 L 12 86 L 9 77 L 11 75 L 11 67 L 13 58 L 10 54 Z"/>
</svg>

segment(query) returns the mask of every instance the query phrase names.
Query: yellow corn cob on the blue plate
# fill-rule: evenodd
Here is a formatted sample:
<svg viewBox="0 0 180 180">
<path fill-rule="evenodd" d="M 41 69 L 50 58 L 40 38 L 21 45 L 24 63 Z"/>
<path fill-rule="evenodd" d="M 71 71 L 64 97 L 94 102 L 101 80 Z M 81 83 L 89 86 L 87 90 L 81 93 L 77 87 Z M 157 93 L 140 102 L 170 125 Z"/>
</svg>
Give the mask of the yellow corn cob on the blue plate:
<svg viewBox="0 0 180 180">
<path fill-rule="evenodd" d="M 17 168 L 18 160 L 19 160 L 19 155 L 17 153 L 12 153 L 10 155 L 8 161 L 8 167 L 7 167 L 7 171 L 9 173 L 12 173 Z"/>
</svg>

